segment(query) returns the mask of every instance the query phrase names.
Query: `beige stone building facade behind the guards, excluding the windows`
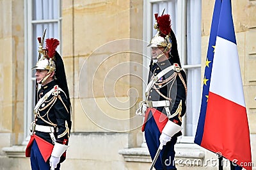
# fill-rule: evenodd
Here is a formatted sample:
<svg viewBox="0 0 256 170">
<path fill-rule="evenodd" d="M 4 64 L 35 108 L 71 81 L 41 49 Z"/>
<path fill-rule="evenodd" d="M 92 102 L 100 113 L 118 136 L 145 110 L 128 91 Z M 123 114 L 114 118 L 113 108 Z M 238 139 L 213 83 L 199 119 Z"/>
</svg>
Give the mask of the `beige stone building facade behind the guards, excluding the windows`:
<svg viewBox="0 0 256 170">
<path fill-rule="evenodd" d="M 143 118 L 136 117 L 134 112 L 143 98 L 143 79 L 147 77 L 148 61 L 143 55 L 148 54 L 145 45 L 151 36 L 147 30 L 152 31 L 154 24 L 152 6 L 159 1 L 59 2 L 59 50 L 67 72 L 73 114 L 70 148 L 61 169 L 148 169 L 151 160 L 140 130 Z M 186 2 L 170 1 L 170 4 L 187 9 Z M 202 80 L 214 0 L 198 2 L 200 27 L 195 31 L 200 36 L 200 63 L 196 68 L 200 69 Z M 29 88 L 32 87 L 29 76 L 33 76 L 28 75 L 31 73 L 28 58 L 31 45 L 35 44 L 29 38 L 38 36 L 28 29 L 29 24 L 35 23 L 28 21 L 36 11 L 31 10 L 31 4 L 32 0 L 0 0 L 0 169 L 30 169 L 24 150 L 28 143 L 26 129 L 31 121 L 28 105 L 32 105 L 27 94 L 33 94 L 29 92 L 33 90 Z M 232 1 L 253 169 L 256 169 L 255 12 L 255 0 Z M 175 23 L 179 32 L 183 25 L 177 20 Z M 47 31 L 51 32 L 49 28 Z M 182 42 L 184 36 L 177 35 L 178 43 Z M 185 58 L 186 52 L 180 52 L 180 56 Z M 199 98 L 200 95 L 201 92 Z M 193 144 L 191 134 L 176 144 L 176 157 L 181 162 L 177 161 L 178 168 L 218 169 L 216 155 Z M 212 164 L 207 164 L 208 160 Z M 224 164 L 225 169 L 228 166 Z"/>
</svg>

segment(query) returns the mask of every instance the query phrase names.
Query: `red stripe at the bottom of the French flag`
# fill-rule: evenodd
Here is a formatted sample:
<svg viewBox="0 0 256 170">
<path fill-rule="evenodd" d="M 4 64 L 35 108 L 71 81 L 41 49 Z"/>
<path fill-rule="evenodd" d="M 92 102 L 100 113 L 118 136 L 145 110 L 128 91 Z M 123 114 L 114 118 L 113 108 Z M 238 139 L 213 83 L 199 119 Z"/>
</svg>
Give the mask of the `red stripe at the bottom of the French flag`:
<svg viewBox="0 0 256 170">
<path fill-rule="evenodd" d="M 239 165 L 250 165 L 249 128 L 246 108 L 209 91 L 201 146 L 225 155 Z M 244 167 L 252 169 L 252 167 Z"/>
</svg>

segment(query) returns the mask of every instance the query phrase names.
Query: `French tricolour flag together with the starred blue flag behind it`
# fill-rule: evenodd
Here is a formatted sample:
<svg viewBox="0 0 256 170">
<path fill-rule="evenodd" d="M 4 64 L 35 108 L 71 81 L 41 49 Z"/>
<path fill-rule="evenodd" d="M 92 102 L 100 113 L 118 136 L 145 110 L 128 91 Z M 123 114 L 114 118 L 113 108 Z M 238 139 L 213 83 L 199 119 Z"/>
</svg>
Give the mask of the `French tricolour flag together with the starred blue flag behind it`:
<svg viewBox="0 0 256 170">
<path fill-rule="evenodd" d="M 252 169 L 230 0 L 216 0 L 214 5 L 195 143 L 245 169 Z"/>
</svg>

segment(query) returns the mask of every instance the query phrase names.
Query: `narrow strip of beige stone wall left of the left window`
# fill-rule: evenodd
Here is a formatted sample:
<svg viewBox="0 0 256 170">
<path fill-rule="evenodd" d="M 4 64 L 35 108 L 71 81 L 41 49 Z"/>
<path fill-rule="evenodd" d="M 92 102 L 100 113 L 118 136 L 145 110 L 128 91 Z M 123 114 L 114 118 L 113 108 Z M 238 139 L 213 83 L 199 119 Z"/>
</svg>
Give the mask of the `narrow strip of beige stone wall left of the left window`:
<svg viewBox="0 0 256 170">
<path fill-rule="evenodd" d="M 24 15 L 20 15 L 23 2 L 0 1 L 0 10 L 1 147 L 23 140 Z"/>
</svg>

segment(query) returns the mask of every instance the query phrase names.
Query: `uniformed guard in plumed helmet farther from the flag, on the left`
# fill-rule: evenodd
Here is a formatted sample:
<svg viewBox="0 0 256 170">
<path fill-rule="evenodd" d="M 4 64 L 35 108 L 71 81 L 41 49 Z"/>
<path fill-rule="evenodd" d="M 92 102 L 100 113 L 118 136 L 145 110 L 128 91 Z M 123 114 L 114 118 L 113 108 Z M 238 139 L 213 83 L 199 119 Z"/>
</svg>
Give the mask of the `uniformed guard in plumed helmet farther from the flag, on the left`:
<svg viewBox="0 0 256 170">
<path fill-rule="evenodd" d="M 36 83 L 41 85 L 31 123 L 31 139 L 26 148 L 32 169 L 60 169 L 65 160 L 72 123 L 70 97 L 65 68 L 56 48 L 60 42 L 54 38 L 38 38 L 40 59 L 36 70 Z"/>
</svg>

